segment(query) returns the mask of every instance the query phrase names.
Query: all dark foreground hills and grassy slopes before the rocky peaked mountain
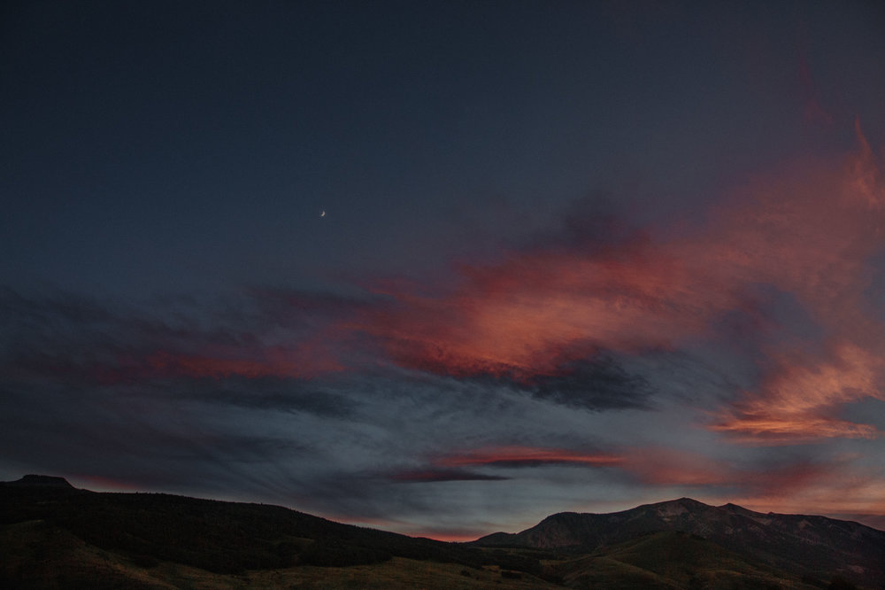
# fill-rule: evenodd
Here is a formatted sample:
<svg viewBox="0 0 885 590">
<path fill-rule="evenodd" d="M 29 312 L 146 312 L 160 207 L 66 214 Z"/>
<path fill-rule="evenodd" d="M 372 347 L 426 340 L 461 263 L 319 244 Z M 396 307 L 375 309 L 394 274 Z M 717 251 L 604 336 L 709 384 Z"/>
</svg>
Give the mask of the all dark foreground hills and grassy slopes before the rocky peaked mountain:
<svg viewBox="0 0 885 590">
<path fill-rule="evenodd" d="M 557 555 L 410 539 L 258 504 L 82 491 L 0 495 L 0 587 L 544 588 L 557 579 L 609 590 L 812 587 L 682 532 Z"/>
</svg>

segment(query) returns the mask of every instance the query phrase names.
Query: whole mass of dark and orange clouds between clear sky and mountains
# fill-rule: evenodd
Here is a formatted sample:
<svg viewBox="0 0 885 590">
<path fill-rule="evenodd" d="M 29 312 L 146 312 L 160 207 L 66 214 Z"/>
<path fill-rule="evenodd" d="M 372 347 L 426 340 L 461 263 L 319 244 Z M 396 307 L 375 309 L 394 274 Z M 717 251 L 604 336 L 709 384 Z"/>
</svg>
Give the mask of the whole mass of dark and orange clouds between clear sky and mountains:
<svg viewBox="0 0 885 590">
<path fill-rule="evenodd" d="M 447 283 L 141 306 L 0 291 L 0 439 L 55 472 L 451 530 L 464 498 L 473 517 L 589 490 L 872 514 L 879 471 L 792 455 L 881 446 L 845 411 L 885 399 L 885 192 L 858 145 L 691 225 L 582 203 Z"/>
</svg>

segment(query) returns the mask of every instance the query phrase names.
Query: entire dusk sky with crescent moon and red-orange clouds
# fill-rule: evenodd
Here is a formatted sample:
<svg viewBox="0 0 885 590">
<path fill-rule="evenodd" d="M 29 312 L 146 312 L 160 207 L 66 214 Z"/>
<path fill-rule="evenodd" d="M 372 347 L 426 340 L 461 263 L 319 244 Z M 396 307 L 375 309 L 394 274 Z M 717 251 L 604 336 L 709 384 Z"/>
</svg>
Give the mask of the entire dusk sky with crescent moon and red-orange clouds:
<svg viewBox="0 0 885 590">
<path fill-rule="evenodd" d="M 885 7 L 6 2 L 0 479 L 442 540 L 885 529 Z"/>
</svg>

